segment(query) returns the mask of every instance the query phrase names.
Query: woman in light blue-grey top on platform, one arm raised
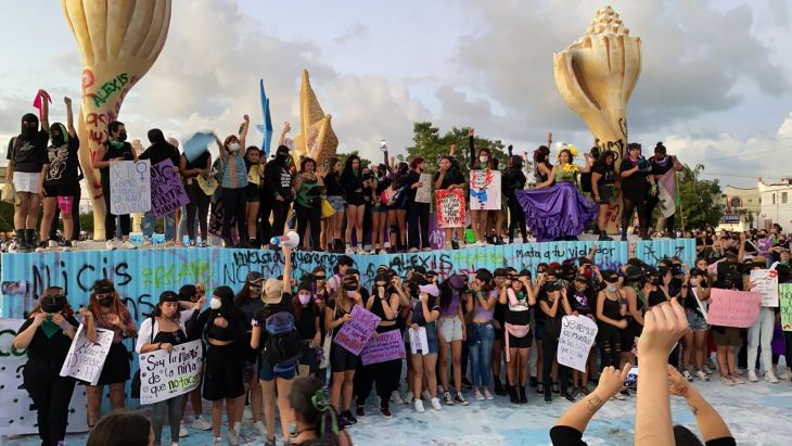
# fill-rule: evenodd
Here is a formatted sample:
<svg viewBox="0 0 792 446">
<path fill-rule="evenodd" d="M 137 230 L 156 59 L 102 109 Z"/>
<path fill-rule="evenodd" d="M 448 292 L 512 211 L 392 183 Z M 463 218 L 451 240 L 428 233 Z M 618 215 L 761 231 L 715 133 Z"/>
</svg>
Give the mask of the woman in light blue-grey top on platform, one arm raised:
<svg viewBox="0 0 792 446">
<path fill-rule="evenodd" d="M 220 160 L 217 166 L 219 182 L 222 187 L 220 197 L 222 200 L 222 239 L 226 247 L 237 247 L 234 238 L 231 232 L 231 222 L 237 220 L 237 235 L 239 237 L 240 247 L 247 247 L 245 240 L 245 188 L 247 187 L 247 167 L 245 158 L 240 153 L 241 148 L 245 146 L 245 138 L 247 137 L 247 127 L 251 123 L 250 117 L 244 115 L 243 123 L 240 126 L 240 135 L 229 135 L 226 141 L 220 143 Z"/>
</svg>

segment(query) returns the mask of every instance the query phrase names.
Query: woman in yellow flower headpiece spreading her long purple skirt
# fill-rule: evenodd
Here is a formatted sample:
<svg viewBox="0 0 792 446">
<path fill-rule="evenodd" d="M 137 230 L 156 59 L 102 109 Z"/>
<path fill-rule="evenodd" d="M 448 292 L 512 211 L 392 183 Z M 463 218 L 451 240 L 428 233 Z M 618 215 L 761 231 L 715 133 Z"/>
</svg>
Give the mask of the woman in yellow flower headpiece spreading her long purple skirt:
<svg viewBox="0 0 792 446">
<path fill-rule="evenodd" d="M 515 192 L 525 222 L 537 242 L 577 240 L 597 218 L 597 204 L 575 186 L 577 174 L 589 171 L 591 161 L 587 155 L 586 165 L 578 167 L 572 162 L 576 152 L 573 145 L 562 149 L 559 163 L 544 182 L 532 190 Z"/>
</svg>

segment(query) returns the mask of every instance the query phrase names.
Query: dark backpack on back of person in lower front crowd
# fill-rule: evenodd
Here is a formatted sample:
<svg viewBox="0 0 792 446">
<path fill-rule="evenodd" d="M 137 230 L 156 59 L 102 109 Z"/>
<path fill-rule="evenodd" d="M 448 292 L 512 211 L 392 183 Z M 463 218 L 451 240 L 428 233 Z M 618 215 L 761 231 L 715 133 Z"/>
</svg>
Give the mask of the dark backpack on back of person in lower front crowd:
<svg viewBox="0 0 792 446">
<path fill-rule="evenodd" d="M 303 343 L 299 332 L 294 328 L 294 316 L 286 311 L 276 313 L 265 321 L 267 341 L 261 357 L 272 367 L 273 372 L 294 370 L 303 357 Z"/>
</svg>

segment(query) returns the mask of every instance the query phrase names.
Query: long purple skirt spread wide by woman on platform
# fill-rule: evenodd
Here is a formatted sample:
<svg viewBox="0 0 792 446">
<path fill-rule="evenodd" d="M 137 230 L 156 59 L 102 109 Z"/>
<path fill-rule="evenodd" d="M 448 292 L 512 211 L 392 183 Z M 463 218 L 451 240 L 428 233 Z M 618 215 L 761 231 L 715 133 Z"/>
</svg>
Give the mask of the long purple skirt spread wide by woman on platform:
<svg viewBox="0 0 792 446">
<path fill-rule="evenodd" d="M 525 222 L 538 242 L 577 237 L 597 219 L 599 206 L 575 184 L 557 182 L 544 189 L 516 191 Z"/>
</svg>

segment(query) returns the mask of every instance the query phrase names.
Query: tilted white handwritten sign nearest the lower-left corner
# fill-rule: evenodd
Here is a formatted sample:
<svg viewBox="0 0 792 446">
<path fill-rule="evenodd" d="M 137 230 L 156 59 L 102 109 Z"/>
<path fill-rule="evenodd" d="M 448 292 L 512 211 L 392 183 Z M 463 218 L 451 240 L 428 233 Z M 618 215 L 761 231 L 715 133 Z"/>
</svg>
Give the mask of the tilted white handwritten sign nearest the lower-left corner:
<svg viewBox="0 0 792 446">
<path fill-rule="evenodd" d="M 61 377 L 74 377 L 97 385 L 111 345 L 113 345 L 112 330 L 97 329 L 97 342 L 92 343 L 86 336 L 85 326 L 80 324 L 68 348 L 66 360 L 61 367 Z"/>
</svg>

